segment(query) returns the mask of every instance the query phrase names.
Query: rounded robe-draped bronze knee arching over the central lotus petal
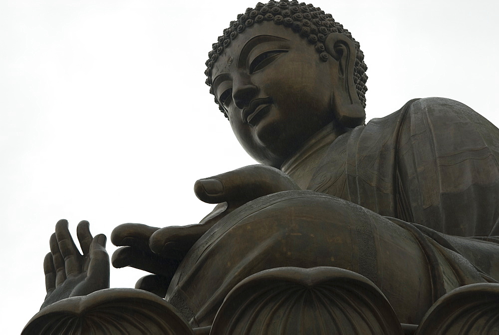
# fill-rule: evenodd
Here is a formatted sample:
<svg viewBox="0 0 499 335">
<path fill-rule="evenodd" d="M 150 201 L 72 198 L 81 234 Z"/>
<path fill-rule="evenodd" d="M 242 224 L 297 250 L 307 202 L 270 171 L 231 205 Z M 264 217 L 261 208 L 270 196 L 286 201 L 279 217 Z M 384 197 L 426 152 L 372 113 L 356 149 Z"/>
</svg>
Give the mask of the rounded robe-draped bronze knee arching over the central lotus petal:
<svg viewBox="0 0 499 335">
<path fill-rule="evenodd" d="M 434 300 L 427 256 L 413 232 L 363 207 L 311 191 L 281 192 L 242 206 L 208 231 L 166 298 L 207 326 L 229 291 L 254 273 L 329 266 L 371 280 L 410 323 Z"/>
</svg>

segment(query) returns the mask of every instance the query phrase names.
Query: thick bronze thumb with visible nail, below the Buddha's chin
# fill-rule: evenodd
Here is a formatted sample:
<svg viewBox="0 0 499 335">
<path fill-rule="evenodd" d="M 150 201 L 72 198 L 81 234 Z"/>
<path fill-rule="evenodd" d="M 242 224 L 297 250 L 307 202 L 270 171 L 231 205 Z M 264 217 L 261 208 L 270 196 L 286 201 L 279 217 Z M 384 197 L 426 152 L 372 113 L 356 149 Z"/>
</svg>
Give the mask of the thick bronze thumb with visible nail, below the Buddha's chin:
<svg viewBox="0 0 499 335">
<path fill-rule="evenodd" d="M 299 189 L 288 175 L 265 165 L 246 166 L 194 184 L 196 196 L 209 204 L 246 203 L 264 195 Z"/>
</svg>

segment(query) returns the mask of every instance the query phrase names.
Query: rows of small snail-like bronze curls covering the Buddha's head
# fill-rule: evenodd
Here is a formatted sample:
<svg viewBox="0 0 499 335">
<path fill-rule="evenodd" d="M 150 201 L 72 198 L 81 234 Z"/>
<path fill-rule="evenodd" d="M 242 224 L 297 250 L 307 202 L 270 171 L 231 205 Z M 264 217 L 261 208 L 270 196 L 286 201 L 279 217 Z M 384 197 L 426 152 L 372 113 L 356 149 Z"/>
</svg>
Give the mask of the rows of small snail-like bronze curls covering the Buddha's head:
<svg viewBox="0 0 499 335">
<path fill-rule="evenodd" d="M 269 1 L 265 4 L 258 2 L 254 8 L 249 7 L 244 14 L 239 14 L 237 20 L 232 21 L 230 26 L 224 30 L 223 35 L 219 36 L 218 41 L 212 45 L 212 50 L 208 53 L 209 58 L 205 63 L 207 66 L 205 74 L 208 77 L 206 84 L 210 86 L 211 94 L 214 94 L 212 69 L 219 56 L 225 49 L 230 48 L 231 44 L 238 39 L 240 34 L 244 34 L 246 29 L 263 22 L 282 25 L 299 34 L 315 48 L 317 56 L 323 61 L 327 61 L 329 57 L 323 44 L 327 35 L 338 32 L 350 38 L 354 42 L 357 51 L 354 82 L 359 99 L 365 107 L 365 93 L 367 91 L 367 75 L 365 72 L 367 66 L 364 63 L 364 53 L 360 50 L 360 44 L 347 29 L 343 28 L 342 24 L 334 20 L 331 14 L 325 13 L 321 8 L 314 7 L 312 4 L 288 0 Z M 219 103 L 216 98 L 215 102 Z M 219 107 L 225 114 L 224 108 L 220 105 Z"/>
</svg>

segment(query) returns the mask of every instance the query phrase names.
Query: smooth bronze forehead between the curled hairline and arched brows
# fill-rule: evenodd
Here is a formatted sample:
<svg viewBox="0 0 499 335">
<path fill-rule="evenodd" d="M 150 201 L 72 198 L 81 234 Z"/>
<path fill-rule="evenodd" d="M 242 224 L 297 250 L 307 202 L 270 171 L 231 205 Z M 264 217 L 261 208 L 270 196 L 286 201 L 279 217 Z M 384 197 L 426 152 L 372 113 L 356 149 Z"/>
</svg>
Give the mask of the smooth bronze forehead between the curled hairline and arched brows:
<svg viewBox="0 0 499 335">
<path fill-rule="evenodd" d="M 256 37 L 256 38 L 255 38 Z M 262 37 L 262 38 L 259 38 Z M 298 33 L 295 33 L 289 27 L 277 25 L 273 22 L 262 22 L 254 24 L 245 29 L 245 31 L 238 35 L 231 44 L 225 48 L 222 54 L 219 55 L 212 70 L 212 78 L 216 78 L 222 73 L 230 73 L 240 66 L 239 59 L 242 55 L 241 51 L 245 48 L 245 54 L 250 49 L 256 48 L 262 44 L 278 44 L 279 41 L 287 41 L 287 46 L 296 49 L 306 49 L 307 51 L 314 51 L 313 47 L 301 38 Z M 246 47 L 245 47 L 246 45 Z M 309 49 L 309 50 L 308 50 Z"/>
</svg>

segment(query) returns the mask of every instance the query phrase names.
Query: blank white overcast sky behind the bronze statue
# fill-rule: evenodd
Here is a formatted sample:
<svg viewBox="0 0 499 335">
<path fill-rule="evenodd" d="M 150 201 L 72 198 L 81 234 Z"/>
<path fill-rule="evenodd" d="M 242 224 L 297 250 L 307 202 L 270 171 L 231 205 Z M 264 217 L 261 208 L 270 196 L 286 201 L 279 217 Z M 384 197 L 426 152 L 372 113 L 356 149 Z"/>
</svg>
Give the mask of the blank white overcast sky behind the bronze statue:
<svg viewBox="0 0 499 335">
<path fill-rule="evenodd" d="M 197 223 L 213 205 L 195 197 L 194 182 L 254 164 L 203 74 L 211 44 L 254 4 L 0 1 L 3 334 L 18 334 L 44 299 L 57 220 L 74 236 L 89 220 L 108 238 L 125 222 Z M 499 124 L 496 0 L 314 4 L 361 43 L 368 119 L 443 96 Z M 111 287 L 143 275 L 112 269 Z"/>
</svg>

